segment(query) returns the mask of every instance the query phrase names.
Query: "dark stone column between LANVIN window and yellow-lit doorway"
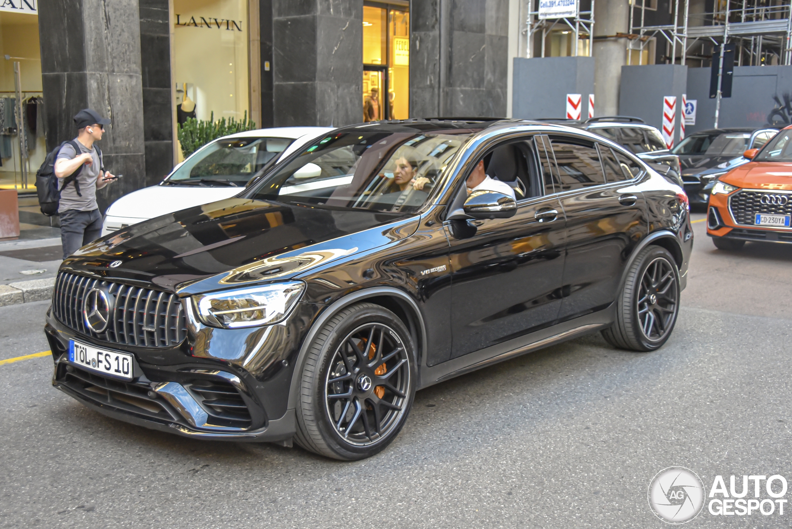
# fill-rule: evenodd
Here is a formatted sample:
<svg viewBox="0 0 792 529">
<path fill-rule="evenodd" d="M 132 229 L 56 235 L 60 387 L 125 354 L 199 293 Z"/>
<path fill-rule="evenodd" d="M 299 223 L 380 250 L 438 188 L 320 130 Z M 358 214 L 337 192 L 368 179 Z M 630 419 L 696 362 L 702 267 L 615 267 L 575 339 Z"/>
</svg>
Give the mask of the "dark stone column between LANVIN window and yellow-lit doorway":
<svg viewBox="0 0 792 529">
<path fill-rule="evenodd" d="M 272 0 L 272 48 L 276 127 L 362 120 L 363 2 Z"/>
</svg>

